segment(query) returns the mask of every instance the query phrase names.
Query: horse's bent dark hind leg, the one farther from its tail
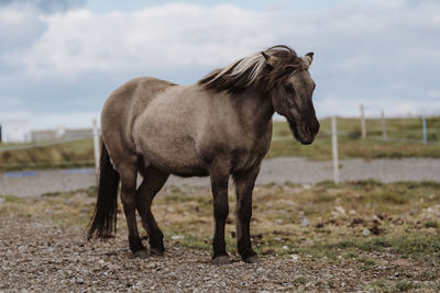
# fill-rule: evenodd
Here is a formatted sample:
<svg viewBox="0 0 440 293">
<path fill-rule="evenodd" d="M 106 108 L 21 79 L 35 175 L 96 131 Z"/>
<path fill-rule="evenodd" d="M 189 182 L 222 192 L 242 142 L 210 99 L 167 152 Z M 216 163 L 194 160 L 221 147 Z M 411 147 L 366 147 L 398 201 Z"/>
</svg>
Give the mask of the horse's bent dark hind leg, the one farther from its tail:
<svg viewBox="0 0 440 293">
<path fill-rule="evenodd" d="M 168 173 L 164 173 L 154 167 L 148 167 L 142 172 L 144 181 L 136 191 L 136 207 L 138 212 L 142 217 L 142 224 L 144 229 L 150 236 L 150 247 L 153 255 L 163 255 L 165 251 L 164 247 L 164 235 L 161 228 L 157 226 L 156 219 L 151 211 L 151 205 L 154 196 L 165 184 L 168 179 Z"/>
</svg>

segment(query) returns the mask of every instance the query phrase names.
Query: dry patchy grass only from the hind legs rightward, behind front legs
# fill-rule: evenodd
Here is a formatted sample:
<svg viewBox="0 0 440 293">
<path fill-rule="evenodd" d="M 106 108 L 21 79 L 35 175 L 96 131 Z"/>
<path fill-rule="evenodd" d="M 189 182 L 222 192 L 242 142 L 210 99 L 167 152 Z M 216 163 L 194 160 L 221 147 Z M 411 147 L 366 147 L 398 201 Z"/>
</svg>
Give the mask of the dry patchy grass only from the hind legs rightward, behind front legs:
<svg viewBox="0 0 440 293">
<path fill-rule="evenodd" d="M 157 219 L 168 235 L 183 235 L 182 243 L 189 247 L 210 247 L 212 206 L 210 196 L 204 195 L 208 192 L 157 200 Z M 233 196 L 230 202 L 234 211 Z M 439 215 L 440 184 L 433 182 L 257 187 L 252 235 L 256 249 L 264 255 L 334 258 L 355 250 L 392 250 L 438 262 Z M 233 222 L 231 215 L 227 241 L 230 252 L 235 253 Z M 370 236 L 363 236 L 364 229 Z"/>
</svg>

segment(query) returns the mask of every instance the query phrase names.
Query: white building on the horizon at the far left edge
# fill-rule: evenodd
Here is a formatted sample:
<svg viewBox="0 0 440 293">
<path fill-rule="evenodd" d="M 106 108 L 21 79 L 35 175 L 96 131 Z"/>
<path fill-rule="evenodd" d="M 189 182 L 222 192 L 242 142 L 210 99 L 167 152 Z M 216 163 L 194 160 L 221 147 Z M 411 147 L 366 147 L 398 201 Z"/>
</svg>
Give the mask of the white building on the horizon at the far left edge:
<svg viewBox="0 0 440 293">
<path fill-rule="evenodd" d="M 31 140 L 30 114 L 26 112 L 0 113 L 0 142 L 26 143 Z"/>
</svg>

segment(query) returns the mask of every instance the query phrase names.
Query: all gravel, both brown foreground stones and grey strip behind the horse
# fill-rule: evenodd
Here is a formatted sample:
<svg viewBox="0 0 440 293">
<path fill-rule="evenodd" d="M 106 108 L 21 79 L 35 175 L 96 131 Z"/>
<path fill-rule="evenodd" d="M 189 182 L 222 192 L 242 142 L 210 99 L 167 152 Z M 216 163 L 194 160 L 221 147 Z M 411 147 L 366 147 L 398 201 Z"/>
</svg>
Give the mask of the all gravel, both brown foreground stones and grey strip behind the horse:
<svg viewBox="0 0 440 293">
<path fill-rule="evenodd" d="M 385 182 L 440 180 L 439 162 L 344 160 L 341 177 Z M 264 161 L 258 183 L 316 183 L 330 178 L 330 162 L 278 158 Z M 29 177 L 12 173 L 0 177 L 0 194 L 34 196 L 94 184 L 95 174 L 84 169 L 36 171 Z M 207 179 L 172 178 L 170 184 L 188 188 L 209 183 Z M 0 201 L 0 206 L 3 203 Z M 439 275 L 438 267 L 403 259 L 387 249 L 355 251 L 359 258 L 372 260 L 365 266 L 342 255 L 336 259 L 261 256 L 255 264 L 243 263 L 232 255 L 231 264 L 216 267 L 209 251 L 188 249 L 172 237 L 165 241 L 165 256 L 140 260 L 131 257 L 125 230 L 119 230 L 116 239 L 87 241 L 84 227 L 36 218 L 12 213 L 0 216 L 0 292 L 365 292 L 378 280 L 394 291 L 402 291 L 398 284 L 405 289 L 402 282 L 406 281 L 416 285 L 410 291 L 438 292 L 440 288 L 438 279 L 424 281 L 419 277 L 427 271 Z"/>
</svg>

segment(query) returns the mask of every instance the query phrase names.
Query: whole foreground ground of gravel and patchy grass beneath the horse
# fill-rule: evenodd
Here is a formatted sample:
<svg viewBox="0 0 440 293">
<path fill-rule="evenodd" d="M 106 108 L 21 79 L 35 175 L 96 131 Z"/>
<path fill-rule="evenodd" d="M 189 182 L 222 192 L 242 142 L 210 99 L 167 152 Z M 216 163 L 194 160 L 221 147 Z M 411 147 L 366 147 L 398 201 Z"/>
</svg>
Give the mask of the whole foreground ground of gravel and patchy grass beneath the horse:
<svg viewBox="0 0 440 293">
<path fill-rule="evenodd" d="M 146 260 L 131 257 L 122 213 L 116 239 L 85 239 L 95 195 L 89 189 L 0 198 L 0 291 L 440 290 L 438 183 L 257 187 L 252 238 L 261 261 L 240 261 L 231 213 L 233 263 L 223 267 L 210 262 L 208 189 L 169 187 L 156 199 L 167 251 Z"/>
</svg>

